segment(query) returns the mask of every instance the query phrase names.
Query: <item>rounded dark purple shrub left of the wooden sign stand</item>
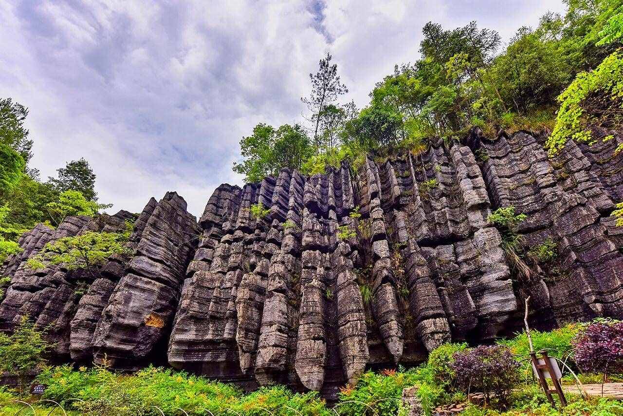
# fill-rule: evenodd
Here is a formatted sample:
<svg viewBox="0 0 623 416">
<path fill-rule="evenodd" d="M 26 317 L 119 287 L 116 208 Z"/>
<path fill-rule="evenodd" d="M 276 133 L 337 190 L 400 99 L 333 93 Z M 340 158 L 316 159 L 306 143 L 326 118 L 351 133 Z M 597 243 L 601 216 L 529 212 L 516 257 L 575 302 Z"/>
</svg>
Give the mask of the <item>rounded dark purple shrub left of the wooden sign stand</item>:
<svg viewBox="0 0 623 416">
<path fill-rule="evenodd" d="M 480 390 L 485 401 L 492 394 L 502 404 L 508 404 L 510 393 L 518 383 L 520 364 L 513 359 L 510 349 L 503 346 L 480 346 L 454 353 L 450 364 L 457 381 L 465 390 Z"/>
</svg>

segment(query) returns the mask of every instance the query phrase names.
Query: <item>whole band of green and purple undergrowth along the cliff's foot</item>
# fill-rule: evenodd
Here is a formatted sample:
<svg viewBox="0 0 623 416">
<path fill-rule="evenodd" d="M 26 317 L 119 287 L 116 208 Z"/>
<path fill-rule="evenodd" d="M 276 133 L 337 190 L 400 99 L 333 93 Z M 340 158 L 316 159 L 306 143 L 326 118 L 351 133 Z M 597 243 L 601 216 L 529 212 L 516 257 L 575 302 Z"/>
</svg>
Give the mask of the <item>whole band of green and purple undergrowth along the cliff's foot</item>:
<svg viewBox="0 0 623 416">
<path fill-rule="evenodd" d="M 330 299 L 333 295 L 327 290 L 325 296 Z M 564 359 L 578 342 L 591 337 L 595 328 L 604 327 L 604 322 L 601 319 L 593 324 L 569 324 L 551 332 L 533 331 L 535 349 L 548 349 L 550 356 Z M 613 328 L 621 325 L 615 321 L 606 323 Z M 590 343 L 584 343 L 586 351 L 589 346 Z M 623 415 L 621 402 L 597 398 L 584 400 L 573 394 L 567 394 L 569 405 L 560 412 L 551 407 L 536 380 L 528 378 L 523 381 L 524 370 L 528 369 L 525 361 L 519 372 L 521 380 L 517 377 L 516 369 L 520 366 L 517 360 L 527 357 L 529 351 L 524 333 L 498 341 L 495 346 L 469 348 L 467 344 L 444 344 L 432 351 L 428 361 L 418 367 L 368 371 L 356 385 L 341 388 L 339 400 L 333 408 L 335 412 L 316 392 L 295 394 L 280 385 L 245 395 L 234 385 L 171 369 L 148 367 L 134 374 L 117 374 L 107 369 L 106 360 L 104 365 L 78 370 L 70 365 L 45 367 L 42 353 L 48 347 L 40 333 L 26 321 L 13 336 L 0 335 L 0 354 L 9 357 L 2 362 L 3 369 L 16 372 L 16 367 L 20 367 L 24 369 L 22 374 L 27 374 L 36 367 L 43 368 L 37 376 L 37 382 L 47 386 L 42 399 L 62 403 L 68 414 L 151 416 L 161 414 L 161 410 L 167 415 L 187 412 L 193 416 L 209 412 L 215 416 L 328 416 L 335 415 L 335 412 L 340 416 L 404 416 L 407 409 L 401 403 L 402 390 L 413 387 L 426 415 L 432 415 L 439 405 L 466 404 L 468 391 L 473 393 L 483 388 L 497 395 L 490 397 L 488 405 L 468 405 L 465 415 Z M 599 346 L 603 347 L 607 345 Z M 603 356 L 601 351 L 594 351 L 597 357 Z M 583 356 L 585 360 L 589 358 Z M 574 356 L 571 356 L 568 363 L 574 366 L 573 361 Z M 466 376 L 469 374 L 473 377 Z M 472 382 L 467 382 L 466 377 Z M 579 377 L 585 382 L 601 382 L 603 374 L 587 373 L 579 374 Z M 621 379 L 617 374 L 609 377 L 611 380 Z M 488 384 L 477 387 L 479 382 L 476 379 Z M 500 396 L 502 390 L 505 396 Z M 27 396 L 23 389 L 20 394 L 19 390 L 11 392 L 0 388 L 0 413 L 15 413 L 22 409 L 24 405 L 2 404 L 18 397 L 28 402 L 39 399 Z M 35 407 L 36 414 L 47 414 L 52 410 L 52 407 Z"/>
</svg>

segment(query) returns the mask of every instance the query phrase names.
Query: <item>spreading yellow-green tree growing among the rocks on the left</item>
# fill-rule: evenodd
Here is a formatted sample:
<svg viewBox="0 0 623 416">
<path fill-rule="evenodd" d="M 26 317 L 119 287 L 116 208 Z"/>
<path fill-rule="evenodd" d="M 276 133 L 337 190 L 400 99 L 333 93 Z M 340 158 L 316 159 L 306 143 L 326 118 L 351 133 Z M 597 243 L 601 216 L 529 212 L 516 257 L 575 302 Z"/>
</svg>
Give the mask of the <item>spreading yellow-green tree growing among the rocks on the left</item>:
<svg viewBox="0 0 623 416">
<path fill-rule="evenodd" d="M 113 254 L 128 254 L 125 242 L 130 236 L 131 223 L 126 223 L 126 233 L 86 233 L 64 237 L 45 244 L 26 265 L 32 269 L 44 269 L 49 264 L 62 264 L 68 270 L 91 269 L 102 266 Z"/>
</svg>

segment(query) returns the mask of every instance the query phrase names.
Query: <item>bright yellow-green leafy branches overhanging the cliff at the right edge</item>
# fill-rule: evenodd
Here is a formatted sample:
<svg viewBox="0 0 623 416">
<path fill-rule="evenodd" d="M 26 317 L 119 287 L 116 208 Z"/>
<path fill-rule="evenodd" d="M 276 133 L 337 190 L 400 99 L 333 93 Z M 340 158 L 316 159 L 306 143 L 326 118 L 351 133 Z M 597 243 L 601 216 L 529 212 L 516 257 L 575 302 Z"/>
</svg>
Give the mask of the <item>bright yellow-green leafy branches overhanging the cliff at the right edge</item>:
<svg viewBox="0 0 623 416">
<path fill-rule="evenodd" d="M 556 125 L 547 141 L 550 154 L 563 148 L 569 138 L 576 142 L 592 143 L 592 125 L 621 125 L 623 54 L 614 52 L 596 69 L 578 74 L 571 85 L 559 95 L 558 100 L 561 106 Z"/>
</svg>

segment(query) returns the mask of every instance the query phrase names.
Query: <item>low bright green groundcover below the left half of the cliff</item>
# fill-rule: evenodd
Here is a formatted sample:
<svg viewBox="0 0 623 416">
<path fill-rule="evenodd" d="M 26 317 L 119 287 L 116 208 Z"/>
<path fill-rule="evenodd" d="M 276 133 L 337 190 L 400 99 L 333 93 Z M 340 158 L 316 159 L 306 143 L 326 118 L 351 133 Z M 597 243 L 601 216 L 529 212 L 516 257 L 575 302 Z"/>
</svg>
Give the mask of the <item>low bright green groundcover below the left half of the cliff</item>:
<svg viewBox="0 0 623 416">
<path fill-rule="evenodd" d="M 242 415 L 265 415 L 266 410 L 287 414 L 328 415 L 325 402 L 316 392 L 295 394 L 283 386 L 262 388 L 249 395 L 232 384 L 204 377 L 148 367 L 133 375 L 118 375 L 104 367 L 72 370 L 69 365 L 50 367 L 37 380 L 47 385 L 44 399 L 62 402 L 86 415 L 191 415 L 222 414 L 231 409 Z M 84 400 L 68 400 L 77 398 Z M 178 409 L 179 408 L 179 409 Z M 209 410 L 207 412 L 205 409 Z M 266 409 L 266 410 L 265 410 Z"/>
</svg>

